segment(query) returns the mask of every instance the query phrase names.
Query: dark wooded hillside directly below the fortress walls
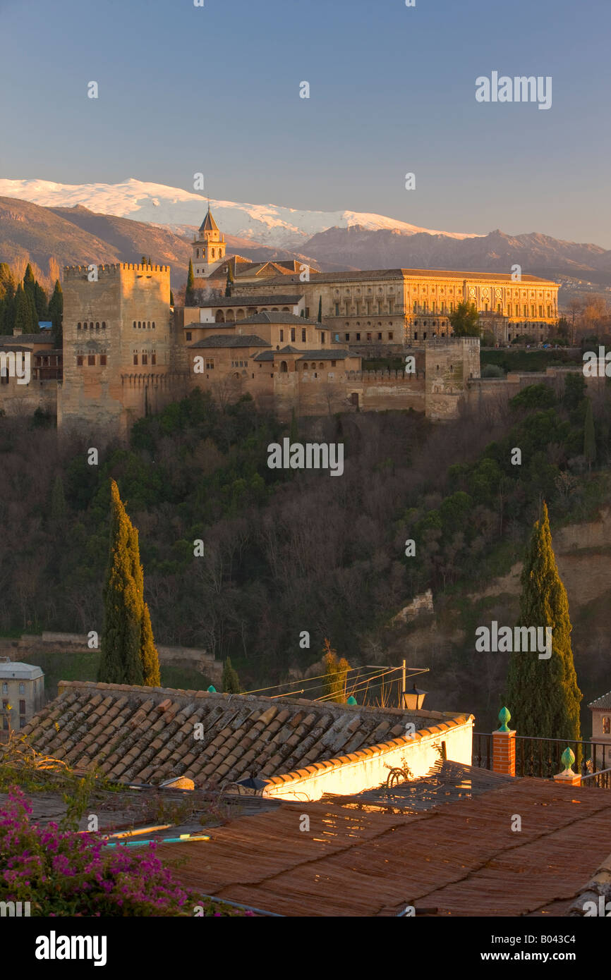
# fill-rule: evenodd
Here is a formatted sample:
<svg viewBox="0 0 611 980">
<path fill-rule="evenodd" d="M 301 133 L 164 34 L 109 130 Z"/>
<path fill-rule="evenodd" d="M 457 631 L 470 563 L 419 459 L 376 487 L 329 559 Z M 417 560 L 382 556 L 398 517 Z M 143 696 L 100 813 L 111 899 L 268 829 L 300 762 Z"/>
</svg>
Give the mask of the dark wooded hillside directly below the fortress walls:
<svg viewBox="0 0 611 980">
<path fill-rule="evenodd" d="M 342 477 L 270 469 L 268 445 L 285 435 L 342 443 Z M 411 412 L 282 425 L 249 396 L 218 405 L 194 391 L 137 421 L 129 445 L 101 449 L 97 466 L 91 442 L 61 436 L 52 419 L 0 417 L 0 629 L 101 631 L 114 478 L 139 530 L 158 643 L 230 657 L 250 688 L 319 662 L 326 639 L 351 666 L 397 663 L 393 616 L 432 589 L 442 617 L 461 590 L 505 573 L 542 500 L 552 533 L 596 515 L 610 437 L 604 382 L 587 397 L 581 374 L 444 425 Z M 477 666 L 460 685 L 447 666 L 437 662 L 436 678 L 432 667 L 431 707 L 498 710 L 500 674 L 486 693 Z"/>
</svg>

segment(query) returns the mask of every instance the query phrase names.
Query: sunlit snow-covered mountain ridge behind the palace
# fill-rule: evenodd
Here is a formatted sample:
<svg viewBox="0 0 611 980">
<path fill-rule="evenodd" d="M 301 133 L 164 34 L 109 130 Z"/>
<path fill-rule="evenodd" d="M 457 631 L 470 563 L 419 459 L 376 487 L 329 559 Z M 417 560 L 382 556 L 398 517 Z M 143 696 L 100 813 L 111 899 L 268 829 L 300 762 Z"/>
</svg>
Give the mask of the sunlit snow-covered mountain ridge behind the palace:
<svg viewBox="0 0 611 980">
<path fill-rule="evenodd" d="M 130 178 L 123 183 L 61 184 L 51 180 L 0 179 L 0 197 L 16 197 L 43 207 L 81 205 L 102 215 L 170 226 L 178 233 L 184 225 L 199 226 L 208 206 L 203 194 L 146 183 Z M 275 204 L 240 204 L 211 199 L 215 219 L 223 232 L 252 239 L 275 248 L 298 249 L 328 228 L 359 225 L 370 231 L 398 231 L 402 235 L 426 232 L 447 238 L 480 238 L 482 235 L 435 231 L 383 215 L 356 211 L 297 211 Z"/>
</svg>

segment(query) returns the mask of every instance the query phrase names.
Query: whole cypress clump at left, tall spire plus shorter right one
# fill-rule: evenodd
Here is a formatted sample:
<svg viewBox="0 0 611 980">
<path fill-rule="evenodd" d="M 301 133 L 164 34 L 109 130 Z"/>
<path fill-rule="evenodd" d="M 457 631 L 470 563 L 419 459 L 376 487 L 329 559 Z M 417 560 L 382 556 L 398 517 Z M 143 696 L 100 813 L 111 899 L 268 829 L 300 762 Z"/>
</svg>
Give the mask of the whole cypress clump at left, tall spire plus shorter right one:
<svg viewBox="0 0 611 980">
<path fill-rule="evenodd" d="M 111 483 L 110 558 L 104 589 L 104 635 L 98 680 L 107 684 L 161 684 L 138 532 L 129 520 L 115 480 Z"/>
</svg>

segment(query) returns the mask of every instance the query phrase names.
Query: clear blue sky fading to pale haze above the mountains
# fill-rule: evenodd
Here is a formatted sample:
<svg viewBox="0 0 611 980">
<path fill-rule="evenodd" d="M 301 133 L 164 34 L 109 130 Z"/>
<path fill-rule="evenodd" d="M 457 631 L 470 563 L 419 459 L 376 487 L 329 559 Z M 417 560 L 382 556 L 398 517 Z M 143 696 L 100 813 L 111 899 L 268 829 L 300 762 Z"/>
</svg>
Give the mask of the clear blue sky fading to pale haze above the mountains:
<svg viewBox="0 0 611 980">
<path fill-rule="evenodd" d="M 609 0 L 203 4 L 0 0 L 0 176 L 203 172 L 217 199 L 611 249 Z M 551 76 L 551 107 L 478 102 L 492 72 Z"/>
</svg>

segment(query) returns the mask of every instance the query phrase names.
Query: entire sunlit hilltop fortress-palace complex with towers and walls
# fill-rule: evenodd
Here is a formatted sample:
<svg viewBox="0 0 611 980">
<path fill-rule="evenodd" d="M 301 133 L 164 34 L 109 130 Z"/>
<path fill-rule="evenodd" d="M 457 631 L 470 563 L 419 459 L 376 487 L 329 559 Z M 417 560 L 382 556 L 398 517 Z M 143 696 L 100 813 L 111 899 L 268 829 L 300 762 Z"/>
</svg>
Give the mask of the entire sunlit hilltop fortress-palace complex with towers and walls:
<svg viewBox="0 0 611 980">
<path fill-rule="evenodd" d="M 474 303 L 501 344 L 544 340 L 558 316 L 558 284 L 531 275 L 321 272 L 228 257 L 210 209 L 192 249 L 197 306 L 171 307 L 167 266 L 64 270 L 63 351 L 43 334 L 0 338 L 0 351 L 33 360 L 29 383 L 2 379 L 5 411 L 41 408 L 61 427 L 125 435 L 198 386 L 225 400 L 250 393 L 280 417 L 395 408 L 452 417 L 480 377 L 479 339 L 451 335 L 457 304 Z M 363 369 L 381 354 L 408 358 L 406 369 Z"/>
</svg>

